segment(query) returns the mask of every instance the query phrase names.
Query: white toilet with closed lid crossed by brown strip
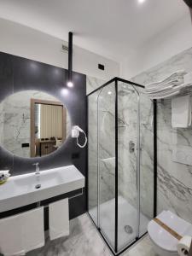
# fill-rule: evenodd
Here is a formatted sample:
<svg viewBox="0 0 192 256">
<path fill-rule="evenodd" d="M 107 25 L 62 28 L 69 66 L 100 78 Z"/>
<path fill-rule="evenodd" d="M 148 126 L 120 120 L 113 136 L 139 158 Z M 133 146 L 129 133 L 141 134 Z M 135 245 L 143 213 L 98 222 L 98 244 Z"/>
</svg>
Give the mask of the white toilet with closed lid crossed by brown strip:
<svg viewBox="0 0 192 256">
<path fill-rule="evenodd" d="M 180 236 L 192 236 L 192 224 L 189 224 L 183 218 L 179 218 L 176 214 L 163 211 L 157 218 L 172 230 L 175 230 Z M 148 223 L 148 236 L 152 241 L 155 253 L 160 256 L 178 256 L 178 240 L 154 220 Z"/>
</svg>

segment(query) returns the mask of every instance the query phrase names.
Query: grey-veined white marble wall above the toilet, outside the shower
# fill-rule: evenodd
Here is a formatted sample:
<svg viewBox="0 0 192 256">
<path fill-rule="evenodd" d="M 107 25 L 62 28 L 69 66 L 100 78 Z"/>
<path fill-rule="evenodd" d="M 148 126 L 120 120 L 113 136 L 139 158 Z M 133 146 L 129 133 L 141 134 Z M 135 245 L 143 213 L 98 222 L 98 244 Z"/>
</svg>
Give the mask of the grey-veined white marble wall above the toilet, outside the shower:
<svg viewBox="0 0 192 256">
<path fill-rule="evenodd" d="M 132 80 L 149 84 L 182 69 L 187 73 L 192 71 L 192 48 L 137 75 Z M 158 212 L 170 209 L 192 223 L 192 166 L 172 161 L 173 147 L 192 147 L 191 127 L 172 128 L 171 100 L 158 101 L 157 106 Z"/>
</svg>

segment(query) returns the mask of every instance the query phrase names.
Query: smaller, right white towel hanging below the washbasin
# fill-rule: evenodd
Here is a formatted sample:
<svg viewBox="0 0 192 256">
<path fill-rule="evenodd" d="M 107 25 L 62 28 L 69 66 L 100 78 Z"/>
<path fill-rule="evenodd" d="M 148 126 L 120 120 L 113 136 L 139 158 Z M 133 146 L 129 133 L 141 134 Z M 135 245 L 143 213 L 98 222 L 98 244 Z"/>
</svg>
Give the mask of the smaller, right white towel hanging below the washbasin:
<svg viewBox="0 0 192 256">
<path fill-rule="evenodd" d="M 68 198 L 49 204 L 50 240 L 69 236 Z"/>
</svg>

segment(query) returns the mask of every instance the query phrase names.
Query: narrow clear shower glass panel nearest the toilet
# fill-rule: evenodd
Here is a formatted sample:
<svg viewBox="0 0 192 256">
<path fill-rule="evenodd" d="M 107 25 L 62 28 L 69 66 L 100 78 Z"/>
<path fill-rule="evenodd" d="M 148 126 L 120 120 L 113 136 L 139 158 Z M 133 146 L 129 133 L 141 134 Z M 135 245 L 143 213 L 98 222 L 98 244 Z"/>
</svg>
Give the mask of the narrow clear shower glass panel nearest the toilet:
<svg viewBox="0 0 192 256">
<path fill-rule="evenodd" d="M 140 229 L 143 236 L 146 220 L 154 218 L 154 105 L 140 92 Z"/>
</svg>

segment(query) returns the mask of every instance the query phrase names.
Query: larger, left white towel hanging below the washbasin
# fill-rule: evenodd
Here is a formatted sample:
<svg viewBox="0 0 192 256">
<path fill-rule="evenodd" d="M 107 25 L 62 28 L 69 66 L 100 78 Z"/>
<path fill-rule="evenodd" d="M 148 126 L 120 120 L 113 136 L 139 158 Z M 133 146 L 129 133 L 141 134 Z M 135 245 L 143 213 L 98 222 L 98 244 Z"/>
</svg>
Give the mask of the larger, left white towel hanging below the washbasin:
<svg viewBox="0 0 192 256">
<path fill-rule="evenodd" d="M 0 252 L 25 255 L 44 246 L 44 208 L 0 219 Z"/>
</svg>

